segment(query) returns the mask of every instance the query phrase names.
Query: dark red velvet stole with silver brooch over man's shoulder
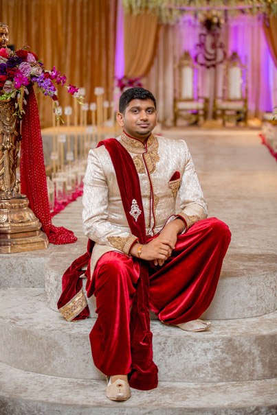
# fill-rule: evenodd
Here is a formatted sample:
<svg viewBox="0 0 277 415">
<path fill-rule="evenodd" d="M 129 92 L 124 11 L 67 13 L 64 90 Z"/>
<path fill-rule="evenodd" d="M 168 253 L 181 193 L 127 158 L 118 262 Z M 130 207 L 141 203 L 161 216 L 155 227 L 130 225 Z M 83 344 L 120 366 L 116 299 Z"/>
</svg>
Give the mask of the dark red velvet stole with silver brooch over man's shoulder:
<svg viewBox="0 0 277 415">
<path fill-rule="evenodd" d="M 98 146 L 104 145 L 111 156 L 115 169 L 118 187 L 122 198 L 122 204 L 131 233 L 135 235 L 142 244 L 146 243 L 146 230 L 144 222 L 144 210 L 142 206 L 142 195 L 140 191 L 140 179 L 130 154 L 116 139 L 101 141 Z M 135 200 L 140 208 L 137 221 L 130 214 L 131 205 Z M 89 261 L 93 242 L 89 241 L 87 254 L 76 259 L 63 276 L 63 294 L 58 300 L 58 308 L 63 307 L 71 300 L 82 287 L 82 266 Z M 87 271 L 87 295 L 91 296 L 94 291 L 89 281 L 90 272 Z M 86 318 L 89 314 L 86 307 L 77 318 Z M 129 380 L 132 388 L 149 390 L 157 387 L 157 366 L 153 362 L 152 333 L 150 331 L 149 316 L 149 279 L 146 261 L 140 260 L 140 278 L 137 282 L 137 292 L 133 299 L 131 309 L 131 354 L 132 371 Z"/>
</svg>

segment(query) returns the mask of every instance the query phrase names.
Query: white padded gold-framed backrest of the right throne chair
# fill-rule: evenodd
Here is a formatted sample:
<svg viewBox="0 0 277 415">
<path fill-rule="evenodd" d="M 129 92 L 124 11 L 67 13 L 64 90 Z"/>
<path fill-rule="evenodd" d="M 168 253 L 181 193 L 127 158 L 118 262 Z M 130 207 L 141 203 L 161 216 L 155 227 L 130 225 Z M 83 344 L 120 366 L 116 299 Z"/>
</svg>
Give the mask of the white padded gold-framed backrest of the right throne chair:
<svg viewBox="0 0 277 415">
<path fill-rule="evenodd" d="M 233 52 L 227 62 L 227 98 L 232 100 L 243 99 L 243 71 L 246 72 L 245 65 L 242 64 L 239 55 Z M 245 73 L 246 82 L 246 73 Z M 245 85 L 245 93 L 247 86 Z"/>
</svg>

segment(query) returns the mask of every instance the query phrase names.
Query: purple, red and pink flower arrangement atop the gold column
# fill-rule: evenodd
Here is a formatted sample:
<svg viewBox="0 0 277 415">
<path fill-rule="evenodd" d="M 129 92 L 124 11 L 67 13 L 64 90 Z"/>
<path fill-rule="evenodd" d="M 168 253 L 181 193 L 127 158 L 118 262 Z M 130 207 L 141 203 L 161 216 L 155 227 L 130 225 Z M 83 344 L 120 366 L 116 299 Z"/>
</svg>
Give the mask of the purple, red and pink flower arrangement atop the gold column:
<svg viewBox="0 0 277 415">
<path fill-rule="evenodd" d="M 28 94 L 27 86 L 36 84 L 38 91 L 41 91 L 43 95 L 49 95 L 53 99 L 54 112 L 60 118 L 57 90 L 54 85 L 56 84 L 65 86 L 67 92 L 82 104 L 82 97 L 78 95 L 78 88 L 71 84 L 66 86 L 67 78 L 65 75 L 60 75 L 55 67 L 52 71 L 45 69 L 43 61 L 28 49 L 27 45 L 16 51 L 8 48 L 0 49 L 0 99 L 16 99 L 15 114 L 21 118 L 25 114 L 23 104 L 26 104 L 24 94 Z"/>
</svg>

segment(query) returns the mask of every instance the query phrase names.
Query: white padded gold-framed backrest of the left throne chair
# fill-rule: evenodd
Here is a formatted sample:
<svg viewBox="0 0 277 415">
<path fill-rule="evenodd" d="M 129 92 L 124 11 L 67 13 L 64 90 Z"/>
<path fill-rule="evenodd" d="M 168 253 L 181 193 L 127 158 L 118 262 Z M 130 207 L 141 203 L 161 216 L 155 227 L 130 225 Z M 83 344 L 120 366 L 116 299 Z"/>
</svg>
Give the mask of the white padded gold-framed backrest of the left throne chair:
<svg viewBox="0 0 277 415">
<path fill-rule="evenodd" d="M 179 61 L 179 99 L 193 99 L 193 81 L 195 64 L 188 51 L 185 51 Z"/>
</svg>

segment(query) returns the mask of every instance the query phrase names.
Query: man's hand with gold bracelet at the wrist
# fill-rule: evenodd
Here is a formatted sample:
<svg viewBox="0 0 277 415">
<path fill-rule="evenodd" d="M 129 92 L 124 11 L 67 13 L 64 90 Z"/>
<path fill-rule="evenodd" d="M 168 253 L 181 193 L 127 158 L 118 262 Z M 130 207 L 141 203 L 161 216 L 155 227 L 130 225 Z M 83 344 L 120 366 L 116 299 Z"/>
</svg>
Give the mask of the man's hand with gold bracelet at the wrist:
<svg viewBox="0 0 277 415">
<path fill-rule="evenodd" d="M 136 243 L 132 246 L 130 254 L 133 257 L 138 258 L 137 250 L 140 247 L 140 244 Z M 164 261 L 168 259 L 171 255 L 172 248 L 168 245 L 168 241 L 155 238 L 148 244 L 142 245 L 142 253 L 140 258 L 145 261 L 154 261 L 154 264 L 163 265 Z"/>
</svg>

